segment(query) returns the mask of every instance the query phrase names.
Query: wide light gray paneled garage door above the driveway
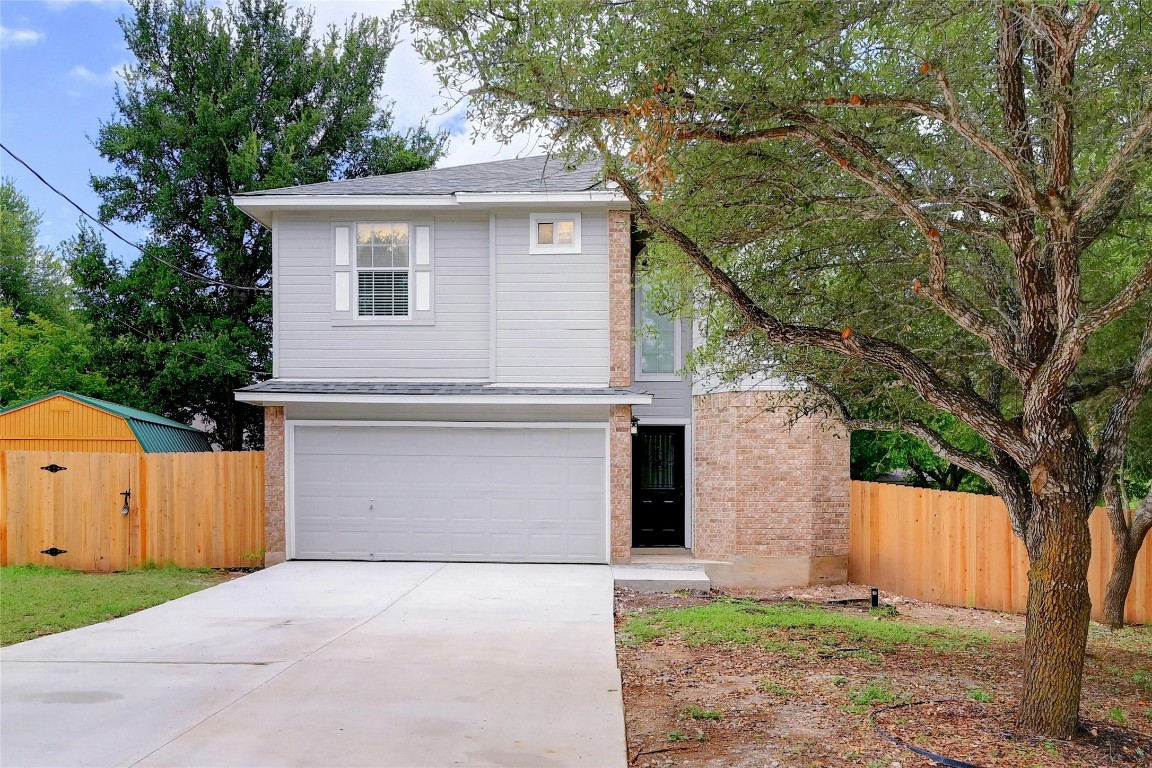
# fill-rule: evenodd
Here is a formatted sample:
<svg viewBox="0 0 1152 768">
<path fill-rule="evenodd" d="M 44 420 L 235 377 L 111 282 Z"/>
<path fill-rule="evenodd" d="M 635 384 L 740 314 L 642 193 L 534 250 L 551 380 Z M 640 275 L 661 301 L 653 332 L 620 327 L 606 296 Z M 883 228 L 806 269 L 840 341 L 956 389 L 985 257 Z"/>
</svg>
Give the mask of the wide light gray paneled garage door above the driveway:
<svg viewBox="0 0 1152 768">
<path fill-rule="evenodd" d="M 607 562 L 605 432 L 296 426 L 294 556 Z"/>
</svg>

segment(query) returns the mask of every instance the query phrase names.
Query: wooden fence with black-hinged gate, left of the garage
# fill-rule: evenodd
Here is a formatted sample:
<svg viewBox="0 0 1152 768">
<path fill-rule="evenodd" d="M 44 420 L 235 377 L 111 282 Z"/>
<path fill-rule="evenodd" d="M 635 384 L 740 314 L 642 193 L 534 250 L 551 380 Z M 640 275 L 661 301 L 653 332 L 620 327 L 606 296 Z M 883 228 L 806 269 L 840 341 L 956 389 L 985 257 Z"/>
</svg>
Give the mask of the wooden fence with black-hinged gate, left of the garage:
<svg viewBox="0 0 1152 768">
<path fill-rule="evenodd" d="M 53 472 L 53 465 L 67 469 Z M 149 562 L 264 562 L 260 451 L 0 451 L 0 505 L 3 565 L 115 571 Z M 65 552 L 45 554 L 52 549 Z"/>
</svg>

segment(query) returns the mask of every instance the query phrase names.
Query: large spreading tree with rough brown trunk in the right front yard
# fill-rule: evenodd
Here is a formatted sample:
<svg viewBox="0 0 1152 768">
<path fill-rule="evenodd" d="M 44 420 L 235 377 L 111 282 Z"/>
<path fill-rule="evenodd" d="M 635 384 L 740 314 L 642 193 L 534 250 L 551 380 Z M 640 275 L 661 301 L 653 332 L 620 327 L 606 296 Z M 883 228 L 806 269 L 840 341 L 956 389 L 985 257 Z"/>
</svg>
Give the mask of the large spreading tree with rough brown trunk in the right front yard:
<svg viewBox="0 0 1152 768">
<path fill-rule="evenodd" d="M 1152 25 L 1138 2 L 412 0 L 477 116 L 596 153 L 702 353 L 806 382 L 1007 502 L 1018 727 L 1077 728 L 1087 517 L 1152 383 Z M 1108 281 L 1096 280 L 1111 275 Z M 1111 287 L 1111 288 L 1108 288 Z M 1116 322 L 1139 330 L 1085 364 Z M 1077 403 L 1114 393 L 1102 418 Z M 978 435 L 963 450 L 922 415 Z"/>
</svg>

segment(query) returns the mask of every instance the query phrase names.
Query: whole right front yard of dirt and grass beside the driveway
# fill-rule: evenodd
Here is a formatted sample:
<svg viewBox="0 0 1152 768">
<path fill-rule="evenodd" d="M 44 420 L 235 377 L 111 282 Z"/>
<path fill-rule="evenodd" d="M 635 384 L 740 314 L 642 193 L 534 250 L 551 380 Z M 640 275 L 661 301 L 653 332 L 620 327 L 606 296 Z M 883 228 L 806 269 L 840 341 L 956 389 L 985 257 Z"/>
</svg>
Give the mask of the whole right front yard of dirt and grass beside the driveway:
<svg viewBox="0 0 1152 768">
<path fill-rule="evenodd" d="M 1152 755 L 1152 632 L 1093 624 L 1071 742 L 1011 732 L 1023 619 L 923 603 L 865 606 L 617 591 L 630 765 L 909 766 L 919 747 L 1001 768 L 1136 768 Z M 719 721 L 692 717 L 702 707 Z M 675 733 L 669 744 L 669 733 Z M 694 737 L 694 733 L 696 735 Z M 700 738 L 704 735 L 704 738 Z M 918 763 L 917 763 L 918 765 Z"/>
</svg>

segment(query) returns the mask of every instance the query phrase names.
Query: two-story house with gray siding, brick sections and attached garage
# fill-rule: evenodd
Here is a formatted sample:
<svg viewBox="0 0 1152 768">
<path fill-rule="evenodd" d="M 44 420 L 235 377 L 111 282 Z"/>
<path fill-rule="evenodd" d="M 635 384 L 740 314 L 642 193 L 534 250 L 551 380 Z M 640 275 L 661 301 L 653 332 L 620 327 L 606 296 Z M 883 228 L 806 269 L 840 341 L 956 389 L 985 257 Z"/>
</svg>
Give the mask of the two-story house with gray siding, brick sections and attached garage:
<svg viewBox="0 0 1152 768">
<path fill-rule="evenodd" d="M 241 195 L 272 230 L 267 562 L 728 564 L 843 580 L 848 440 L 704 390 L 628 200 L 544 157 Z M 646 329 L 637 334 L 635 328 Z M 718 578 L 719 577 L 719 578 Z"/>
</svg>

